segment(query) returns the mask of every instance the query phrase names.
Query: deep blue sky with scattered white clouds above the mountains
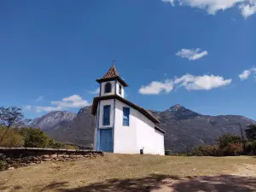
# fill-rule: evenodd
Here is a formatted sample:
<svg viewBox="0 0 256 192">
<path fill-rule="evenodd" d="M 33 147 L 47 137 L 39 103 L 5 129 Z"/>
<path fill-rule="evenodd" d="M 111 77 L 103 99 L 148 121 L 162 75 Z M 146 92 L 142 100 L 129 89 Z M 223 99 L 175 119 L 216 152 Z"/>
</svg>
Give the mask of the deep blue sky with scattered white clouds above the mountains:
<svg viewBox="0 0 256 192">
<path fill-rule="evenodd" d="M 256 119 L 255 23 L 254 0 L 0 1 L 0 105 L 77 112 L 114 58 L 143 108 Z"/>
</svg>

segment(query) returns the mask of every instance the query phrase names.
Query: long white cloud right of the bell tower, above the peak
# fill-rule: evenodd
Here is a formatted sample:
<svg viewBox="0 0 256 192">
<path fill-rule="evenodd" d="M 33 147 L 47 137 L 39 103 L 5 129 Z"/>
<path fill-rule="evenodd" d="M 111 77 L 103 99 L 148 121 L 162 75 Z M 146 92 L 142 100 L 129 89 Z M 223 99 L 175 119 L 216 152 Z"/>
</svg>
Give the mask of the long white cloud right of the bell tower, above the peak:
<svg viewBox="0 0 256 192">
<path fill-rule="evenodd" d="M 185 74 L 173 80 L 166 79 L 165 82 L 153 81 L 148 85 L 142 86 L 139 93 L 143 95 L 158 95 L 161 92 L 170 93 L 175 86 L 183 86 L 186 90 L 212 90 L 213 88 L 226 86 L 231 81 L 232 79 L 224 79 L 214 75 L 195 76 Z"/>
</svg>

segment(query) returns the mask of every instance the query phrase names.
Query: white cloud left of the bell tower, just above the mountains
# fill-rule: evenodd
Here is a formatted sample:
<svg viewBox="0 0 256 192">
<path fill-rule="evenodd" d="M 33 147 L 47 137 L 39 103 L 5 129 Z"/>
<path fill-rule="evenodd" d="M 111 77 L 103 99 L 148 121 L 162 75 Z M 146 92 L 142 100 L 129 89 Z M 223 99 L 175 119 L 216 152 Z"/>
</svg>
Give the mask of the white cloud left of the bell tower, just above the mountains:
<svg viewBox="0 0 256 192">
<path fill-rule="evenodd" d="M 73 95 L 64 97 L 61 101 L 53 101 L 51 102 L 53 106 L 36 106 L 36 112 L 40 113 L 50 112 L 50 111 L 59 111 L 68 108 L 83 108 L 86 106 L 90 106 L 90 103 L 84 100 L 81 96 Z"/>
</svg>

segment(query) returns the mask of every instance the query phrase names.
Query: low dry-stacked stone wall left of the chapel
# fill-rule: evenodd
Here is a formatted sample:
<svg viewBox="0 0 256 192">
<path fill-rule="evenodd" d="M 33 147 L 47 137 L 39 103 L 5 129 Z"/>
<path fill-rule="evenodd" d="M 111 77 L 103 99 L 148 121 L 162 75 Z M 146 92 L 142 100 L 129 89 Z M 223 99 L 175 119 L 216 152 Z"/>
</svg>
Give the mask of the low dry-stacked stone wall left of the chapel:
<svg viewBox="0 0 256 192">
<path fill-rule="evenodd" d="M 0 148 L 0 171 L 21 166 L 39 164 L 44 161 L 65 161 L 96 158 L 102 151 L 54 148 Z"/>
</svg>

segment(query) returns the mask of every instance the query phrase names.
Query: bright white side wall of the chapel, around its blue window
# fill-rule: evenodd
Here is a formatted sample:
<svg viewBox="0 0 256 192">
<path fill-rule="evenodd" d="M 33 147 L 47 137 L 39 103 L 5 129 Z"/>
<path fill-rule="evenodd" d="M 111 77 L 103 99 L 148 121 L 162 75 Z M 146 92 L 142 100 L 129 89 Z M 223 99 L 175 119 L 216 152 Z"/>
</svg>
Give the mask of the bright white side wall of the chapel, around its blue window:
<svg viewBox="0 0 256 192">
<path fill-rule="evenodd" d="M 123 107 L 130 108 L 130 125 L 123 126 Z M 139 154 L 165 154 L 164 134 L 154 130 L 154 123 L 136 109 L 123 102 L 115 102 L 113 152 Z"/>
</svg>

